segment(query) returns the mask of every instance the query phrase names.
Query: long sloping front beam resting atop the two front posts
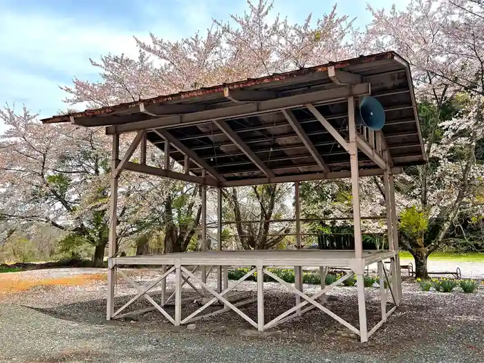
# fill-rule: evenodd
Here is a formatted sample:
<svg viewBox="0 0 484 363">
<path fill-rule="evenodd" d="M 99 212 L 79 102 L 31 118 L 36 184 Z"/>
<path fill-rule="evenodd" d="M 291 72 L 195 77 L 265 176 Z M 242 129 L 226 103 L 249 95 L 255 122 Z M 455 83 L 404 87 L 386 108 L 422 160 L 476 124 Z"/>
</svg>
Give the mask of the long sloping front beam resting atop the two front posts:
<svg viewBox="0 0 484 363">
<path fill-rule="evenodd" d="M 167 116 L 164 118 L 152 118 L 139 122 L 129 122 L 116 124 L 106 127 L 106 134 L 126 133 L 142 129 L 156 129 L 158 127 L 168 127 L 177 124 L 197 124 L 201 122 L 221 120 L 223 118 L 244 117 L 247 115 L 257 115 L 270 111 L 279 111 L 281 109 L 290 109 L 293 107 L 303 106 L 308 103 L 328 102 L 342 100 L 349 95 L 362 96 L 370 94 L 370 84 L 355 84 L 351 87 L 340 87 L 288 97 L 278 97 L 274 100 L 266 100 L 251 104 L 239 104 L 237 106 L 228 106 L 221 109 L 212 109 L 184 115 Z"/>
</svg>

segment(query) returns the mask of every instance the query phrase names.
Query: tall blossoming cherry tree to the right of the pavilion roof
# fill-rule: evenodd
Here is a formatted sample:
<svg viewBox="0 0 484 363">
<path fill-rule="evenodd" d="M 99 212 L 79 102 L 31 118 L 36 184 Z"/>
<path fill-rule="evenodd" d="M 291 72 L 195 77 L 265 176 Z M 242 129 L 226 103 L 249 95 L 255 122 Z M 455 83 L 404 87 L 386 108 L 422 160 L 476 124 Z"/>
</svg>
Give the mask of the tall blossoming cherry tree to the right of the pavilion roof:
<svg viewBox="0 0 484 363">
<path fill-rule="evenodd" d="M 472 208 L 469 196 L 483 172 L 476 159 L 476 145 L 483 140 L 484 92 L 484 32 L 478 25 L 483 19 L 477 3 L 415 0 L 401 12 L 369 7 L 369 36 L 378 47 L 395 50 L 410 62 L 420 101 L 429 163 L 409 167 L 397 179 L 400 210 L 416 207 L 416 214 L 403 216 L 419 225 L 419 218 L 428 219 L 421 239 L 409 238 L 408 221 L 400 221 L 400 241 L 413 254 L 418 277 L 427 277 L 428 255 L 445 243 L 458 216 Z M 462 97 L 465 102 L 459 102 Z M 402 196 L 413 201 L 402 205 Z"/>
</svg>

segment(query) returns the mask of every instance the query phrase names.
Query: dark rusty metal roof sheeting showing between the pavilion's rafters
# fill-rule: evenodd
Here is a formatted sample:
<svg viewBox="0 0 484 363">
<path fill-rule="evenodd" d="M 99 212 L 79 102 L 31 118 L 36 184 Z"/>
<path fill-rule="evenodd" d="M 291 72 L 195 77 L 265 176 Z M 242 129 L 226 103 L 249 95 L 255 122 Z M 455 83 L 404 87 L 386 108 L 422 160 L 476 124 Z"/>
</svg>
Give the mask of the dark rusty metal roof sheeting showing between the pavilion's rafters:
<svg viewBox="0 0 484 363">
<path fill-rule="evenodd" d="M 371 95 L 376 97 L 385 109 L 386 124 L 382 131 L 395 166 L 425 162 L 409 66 L 404 59 L 393 52 L 358 57 L 196 91 L 158 96 L 102 109 L 53 116 L 42 122 L 69 122 L 74 118 L 77 124 L 84 126 L 123 125 L 154 118 L 160 120 L 161 115 L 169 117 L 178 113 L 194 114 L 198 111 L 239 105 L 240 103 L 226 97 L 225 89 L 270 91 L 276 93 L 278 97 L 333 90 L 341 86 L 335 85 L 328 77 L 329 66 L 360 75 L 364 78 L 364 82 L 371 84 Z M 148 114 L 141 112 L 140 105 Z M 333 127 L 347 138 L 348 104 L 346 100 L 335 100 L 316 106 Z M 185 107 L 189 109 L 183 110 Z M 317 152 L 331 167 L 331 171 L 349 170 L 348 153 L 340 147 L 314 115 L 304 106 L 294 107 L 291 111 L 315 145 Z M 254 165 L 254 162 L 225 136 L 213 121 L 208 118 L 192 124 L 170 124 L 159 129 L 169 131 L 174 138 L 194 151 L 227 180 L 264 177 L 265 175 Z M 321 171 L 280 110 L 226 118 L 224 121 L 276 176 L 313 174 Z M 363 129 L 361 132 L 364 132 Z M 149 131 L 147 138 L 160 149 L 164 149 L 165 140 L 156 131 Z M 171 149 L 170 156 L 178 162 L 184 160 L 184 155 L 174 148 Z M 364 153 L 359 153 L 359 160 L 362 168 L 375 167 L 375 163 Z M 197 165 L 192 165 L 190 171 L 198 176 L 201 175 L 201 168 Z"/>
</svg>

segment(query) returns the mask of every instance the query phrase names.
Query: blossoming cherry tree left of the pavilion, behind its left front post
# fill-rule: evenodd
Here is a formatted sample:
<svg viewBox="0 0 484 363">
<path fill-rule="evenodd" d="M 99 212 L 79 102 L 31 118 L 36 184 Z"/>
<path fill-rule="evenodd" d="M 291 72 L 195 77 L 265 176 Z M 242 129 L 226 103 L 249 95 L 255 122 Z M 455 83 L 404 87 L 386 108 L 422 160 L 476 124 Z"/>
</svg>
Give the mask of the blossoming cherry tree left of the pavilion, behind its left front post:
<svg viewBox="0 0 484 363">
<path fill-rule="evenodd" d="M 64 243 L 93 245 L 93 261 L 102 263 L 109 232 L 109 142 L 102 129 L 46 127 L 36 119 L 25 107 L 21 113 L 8 106 L 0 110 L 9 127 L 0 142 L 0 217 L 17 229 L 44 224 L 62 230 Z M 142 183 L 144 178 L 122 178 L 119 243 L 154 222 L 139 199 L 162 188 Z"/>
</svg>

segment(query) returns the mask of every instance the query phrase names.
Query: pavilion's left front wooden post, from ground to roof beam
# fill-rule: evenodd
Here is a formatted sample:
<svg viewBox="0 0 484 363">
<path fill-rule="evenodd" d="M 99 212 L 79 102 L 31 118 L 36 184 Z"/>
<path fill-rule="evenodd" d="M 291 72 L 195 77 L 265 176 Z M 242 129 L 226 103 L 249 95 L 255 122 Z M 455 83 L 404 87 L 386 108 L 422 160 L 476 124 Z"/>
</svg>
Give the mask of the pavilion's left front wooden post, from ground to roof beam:
<svg viewBox="0 0 484 363">
<path fill-rule="evenodd" d="M 108 249 L 108 299 L 106 306 L 106 319 L 111 320 L 114 313 L 114 280 L 116 266 L 111 263 L 111 259 L 116 254 L 116 226 L 118 225 L 118 180 L 119 176 L 115 173 L 119 163 L 120 136 L 113 135 L 113 150 L 111 153 L 111 195 L 109 196 L 109 249 Z"/>
</svg>

